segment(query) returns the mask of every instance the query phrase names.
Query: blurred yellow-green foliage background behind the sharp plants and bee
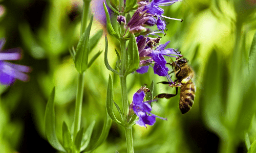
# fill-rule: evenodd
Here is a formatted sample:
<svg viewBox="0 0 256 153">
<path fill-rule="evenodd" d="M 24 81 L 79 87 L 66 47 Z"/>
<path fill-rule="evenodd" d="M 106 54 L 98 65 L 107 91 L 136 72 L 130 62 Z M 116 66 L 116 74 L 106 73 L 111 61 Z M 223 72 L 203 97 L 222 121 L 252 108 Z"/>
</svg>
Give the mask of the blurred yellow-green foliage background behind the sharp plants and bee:
<svg viewBox="0 0 256 153">
<path fill-rule="evenodd" d="M 249 0 L 191 0 L 163 7 L 165 16 L 184 19 L 166 19 L 168 31 L 161 43 L 170 40 L 167 47 L 179 48 L 189 60 L 196 73 L 196 98 L 184 115 L 178 109 L 179 94 L 154 103 L 153 113 L 168 120 L 157 119 L 147 129 L 134 125 L 135 152 L 247 152 L 245 133 L 250 143 L 256 139 L 255 78 L 248 74 L 255 5 Z M 23 48 L 23 60 L 15 63 L 33 69 L 28 83 L 0 86 L 1 152 L 56 152 L 44 135 L 45 107 L 54 86 L 59 139 L 63 120 L 71 127 L 78 72 L 69 49 L 76 47 L 79 39 L 81 8 L 82 0 L 0 1 L 0 37 L 7 40 L 4 49 Z M 99 29 L 106 34 L 102 1 L 91 2 L 91 13 L 95 13 L 91 34 Z M 111 17 L 115 24 L 116 15 Z M 114 48 L 119 46 L 115 38 L 108 39 L 108 58 L 115 67 Z M 102 37 L 93 52 L 104 50 L 104 46 Z M 114 81 L 114 100 L 121 105 L 119 78 L 105 68 L 103 60 L 101 54 L 86 71 L 84 127 L 93 120 L 99 129 L 103 124 L 109 73 Z M 127 77 L 130 103 L 133 94 L 152 80 L 157 83 L 166 78 L 155 75 L 152 68 Z M 155 84 L 153 94 L 158 93 L 175 90 Z M 94 152 L 126 152 L 125 145 L 122 127 L 113 122 L 108 138 Z"/>
</svg>

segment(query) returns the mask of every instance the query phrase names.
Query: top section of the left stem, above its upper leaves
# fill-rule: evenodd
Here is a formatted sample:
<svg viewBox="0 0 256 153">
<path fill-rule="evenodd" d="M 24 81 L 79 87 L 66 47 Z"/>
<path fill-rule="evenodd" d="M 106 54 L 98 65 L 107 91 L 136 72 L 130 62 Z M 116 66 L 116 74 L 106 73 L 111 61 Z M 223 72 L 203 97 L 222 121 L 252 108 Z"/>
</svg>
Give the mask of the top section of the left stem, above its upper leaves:
<svg viewBox="0 0 256 153">
<path fill-rule="evenodd" d="M 83 1 L 83 13 L 81 20 L 81 29 L 80 29 L 80 37 L 86 31 L 87 21 L 89 17 L 89 6 L 91 1 Z"/>
</svg>

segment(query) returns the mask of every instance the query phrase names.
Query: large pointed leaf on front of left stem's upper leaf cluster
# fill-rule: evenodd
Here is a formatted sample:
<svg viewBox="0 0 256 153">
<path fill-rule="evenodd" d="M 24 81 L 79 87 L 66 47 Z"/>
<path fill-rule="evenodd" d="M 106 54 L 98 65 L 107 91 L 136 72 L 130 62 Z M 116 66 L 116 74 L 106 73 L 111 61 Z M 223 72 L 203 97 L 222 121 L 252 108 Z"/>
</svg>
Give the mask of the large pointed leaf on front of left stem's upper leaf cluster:
<svg viewBox="0 0 256 153">
<path fill-rule="evenodd" d="M 92 27 L 93 16 L 91 17 L 91 21 L 86 29 L 86 31 L 82 34 L 75 54 L 75 67 L 79 73 L 82 73 L 87 69 L 88 66 L 88 54 L 89 54 L 89 36 Z"/>
</svg>

